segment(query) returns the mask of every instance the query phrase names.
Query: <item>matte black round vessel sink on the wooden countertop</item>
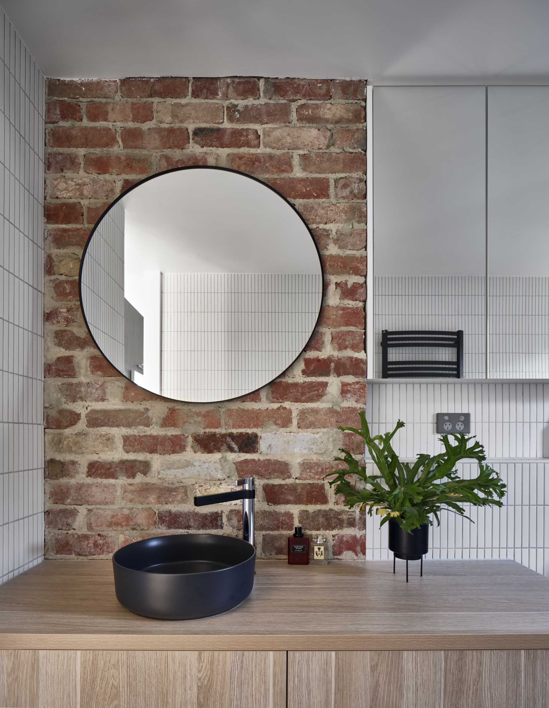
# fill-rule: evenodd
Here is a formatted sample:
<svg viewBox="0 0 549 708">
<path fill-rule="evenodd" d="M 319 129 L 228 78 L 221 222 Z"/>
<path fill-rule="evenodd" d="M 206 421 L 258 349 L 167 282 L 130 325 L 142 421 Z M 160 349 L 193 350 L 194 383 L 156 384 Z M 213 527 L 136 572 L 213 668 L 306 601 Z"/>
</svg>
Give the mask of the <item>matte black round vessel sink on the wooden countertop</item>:
<svg viewBox="0 0 549 708">
<path fill-rule="evenodd" d="M 255 548 L 214 534 L 159 536 L 112 556 L 118 602 L 154 619 L 197 619 L 240 605 L 251 593 Z"/>
</svg>

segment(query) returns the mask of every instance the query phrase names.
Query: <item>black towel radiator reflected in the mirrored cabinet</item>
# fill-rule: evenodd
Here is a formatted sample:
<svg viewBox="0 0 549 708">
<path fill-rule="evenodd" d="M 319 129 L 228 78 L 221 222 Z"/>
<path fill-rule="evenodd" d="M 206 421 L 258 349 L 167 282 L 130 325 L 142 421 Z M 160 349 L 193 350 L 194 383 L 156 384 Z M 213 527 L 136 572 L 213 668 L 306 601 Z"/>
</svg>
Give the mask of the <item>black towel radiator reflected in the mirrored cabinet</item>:
<svg viewBox="0 0 549 708">
<path fill-rule="evenodd" d="M 389 360 L 391 348 L 436 347 L 456 350 L 453 361 Z M 381 332 L 381 377 L 383 379 L 463 379 L 463 329 L 456 332 L 402 330 Z"/>
</svg>

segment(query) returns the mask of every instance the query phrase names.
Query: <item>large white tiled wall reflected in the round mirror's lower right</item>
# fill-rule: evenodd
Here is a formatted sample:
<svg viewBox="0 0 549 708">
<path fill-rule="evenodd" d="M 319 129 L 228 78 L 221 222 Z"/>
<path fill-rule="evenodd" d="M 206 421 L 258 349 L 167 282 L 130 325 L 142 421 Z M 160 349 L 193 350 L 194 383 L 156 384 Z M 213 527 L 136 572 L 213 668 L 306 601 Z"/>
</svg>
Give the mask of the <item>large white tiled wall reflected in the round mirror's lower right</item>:
<svg viewBox="0 0 549 708">
<path fill-rule="evenodd" d="M 306 345 L 321 300 L 320 274 L 164 273 L 163 396 L 214 401 L 265 386 Z"/>
</svg>

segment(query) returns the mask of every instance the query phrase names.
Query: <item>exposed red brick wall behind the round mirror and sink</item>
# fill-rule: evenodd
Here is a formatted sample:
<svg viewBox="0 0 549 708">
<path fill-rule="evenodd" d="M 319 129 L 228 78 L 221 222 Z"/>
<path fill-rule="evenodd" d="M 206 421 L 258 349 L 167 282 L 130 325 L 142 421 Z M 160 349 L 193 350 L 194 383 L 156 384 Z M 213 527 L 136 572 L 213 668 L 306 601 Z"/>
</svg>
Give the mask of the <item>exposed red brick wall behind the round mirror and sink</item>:
<svg viewBox="0 0 549 708">
<path fill-rule="evenodd" d="M 335 557 L 364 555 L 363 520 L 323 475 L 337 425 L 366 400 L 364 81 L 120 79 L 47 82 L 45 421 L 47 557 L 105 557 L 181 530 L 240 532 L 240 503 L 197 493 L 255 476 L 258 556 L 294 525 Z M 80 312 L 83 245 L 103 209 L 147 175 L 218 165 L 258 176 L 313 229 L 326 285 L 308 350 L 270 386 L 227 404 L 178 404 L 117 375 Z M 354 443 L 354 451 L 362 452 Z"/>
</svg>

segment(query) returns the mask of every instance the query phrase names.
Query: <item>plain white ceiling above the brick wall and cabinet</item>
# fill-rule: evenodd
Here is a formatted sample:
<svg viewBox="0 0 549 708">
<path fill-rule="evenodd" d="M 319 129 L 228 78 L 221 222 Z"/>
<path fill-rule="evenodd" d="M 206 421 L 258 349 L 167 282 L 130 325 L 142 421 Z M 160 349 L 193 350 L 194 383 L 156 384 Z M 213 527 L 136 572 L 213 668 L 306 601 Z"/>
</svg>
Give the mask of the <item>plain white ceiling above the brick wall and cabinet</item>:
<svg viewBox="0 0 549 708">
<path fill-rule="evenodd" d="M 548 0 L 2 0 L 46 76 L 543 83 Z"/>
</svg>

